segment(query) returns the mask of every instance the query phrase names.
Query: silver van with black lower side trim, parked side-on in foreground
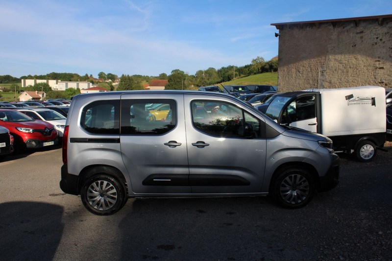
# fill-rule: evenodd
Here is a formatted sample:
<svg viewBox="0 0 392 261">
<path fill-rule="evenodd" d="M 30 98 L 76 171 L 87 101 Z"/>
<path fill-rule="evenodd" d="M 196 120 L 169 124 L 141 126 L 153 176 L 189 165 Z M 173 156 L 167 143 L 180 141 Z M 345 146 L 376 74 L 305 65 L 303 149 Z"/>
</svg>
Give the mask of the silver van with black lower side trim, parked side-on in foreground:
<svg viewBox="0 0 392 261">
<path fill-rule="evenodd" d="M 63 139 L 60 188 L 99 215 L 138 197 L 270 194 L 299 208 L 339 182 L 329 138 L 221 93 L 76 95 Z"/>
</svg>

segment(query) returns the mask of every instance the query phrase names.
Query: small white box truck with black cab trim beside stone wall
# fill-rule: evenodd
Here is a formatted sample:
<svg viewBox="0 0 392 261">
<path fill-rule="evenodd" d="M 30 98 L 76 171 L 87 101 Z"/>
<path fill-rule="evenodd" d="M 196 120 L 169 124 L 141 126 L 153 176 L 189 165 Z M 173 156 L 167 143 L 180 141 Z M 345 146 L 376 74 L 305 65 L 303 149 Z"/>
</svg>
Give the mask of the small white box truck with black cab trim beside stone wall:
<svg viewBox="0 0 392 261">
<path fill-rule="evenodd" d="M 336 152 L 355 153 L 362 162 L 371 161 L 386 139 L 383 87 L 284 93 L 270 103 L 266 115 L 281 125 L 325 135 Z"/>
</svg>

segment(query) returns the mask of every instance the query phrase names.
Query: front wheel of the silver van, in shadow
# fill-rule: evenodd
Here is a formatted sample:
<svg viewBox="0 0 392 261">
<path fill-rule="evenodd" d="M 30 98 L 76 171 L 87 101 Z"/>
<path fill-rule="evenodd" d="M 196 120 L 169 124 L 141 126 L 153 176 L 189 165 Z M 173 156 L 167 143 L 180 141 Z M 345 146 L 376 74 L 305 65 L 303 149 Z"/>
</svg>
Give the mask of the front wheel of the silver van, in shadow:
<svg viewBox="0 0 392 261">
<path fill-rule="evenodd" d="M 308 204 L 316 191 L 312 175 L 301 167 L 292 166 L 280 171 L 273 183 L 275 201 L 284 208 L 297 209 Z"/>
</svg>

